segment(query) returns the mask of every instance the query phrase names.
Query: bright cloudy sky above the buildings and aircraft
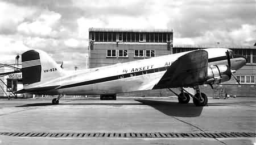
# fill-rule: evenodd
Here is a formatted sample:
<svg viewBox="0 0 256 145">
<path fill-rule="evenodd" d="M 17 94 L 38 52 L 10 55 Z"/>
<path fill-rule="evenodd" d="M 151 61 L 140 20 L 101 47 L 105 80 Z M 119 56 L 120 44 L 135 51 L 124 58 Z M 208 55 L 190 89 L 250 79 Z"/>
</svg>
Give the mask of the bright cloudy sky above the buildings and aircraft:
<svg viewBox="0 0 256 145">
<path fill-rule="evenodd" d="M 255 0 L 1 0 L 0 63 L 42 49 L 85 68 L 89 27 L 173 28 L 174 45 L 253 45 Z"/>
</svg>

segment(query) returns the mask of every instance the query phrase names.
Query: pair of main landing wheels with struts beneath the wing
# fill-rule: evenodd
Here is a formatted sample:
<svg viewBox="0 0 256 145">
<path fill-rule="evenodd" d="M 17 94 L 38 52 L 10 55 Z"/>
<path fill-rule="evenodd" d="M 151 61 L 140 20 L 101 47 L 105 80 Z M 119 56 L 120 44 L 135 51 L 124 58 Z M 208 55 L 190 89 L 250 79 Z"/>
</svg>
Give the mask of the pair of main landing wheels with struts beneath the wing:
<svg viewBox="0 0 256 145">
<path fill-rule="evenodd" d="M 195 86 L 196 90 L 196 94 L 195 96 L 189 92 L 187 92 L 187 90 L 185 90 L 184 88 L 180 88 L 180 94 L 175 93 L 174 91 L 172 91 L 170 88 L 168 88 L 172 93 L 174 93 L 177 97 L 178 97 L 178 101 L 179 103 L 188 103 L 190 101 L 190 97 L 193 98 L 193 103 L 196 106 L 206 106 L 208 99 L 207 96 L 204 93 L 200 92 L 199 86 Z"/>
</svg>

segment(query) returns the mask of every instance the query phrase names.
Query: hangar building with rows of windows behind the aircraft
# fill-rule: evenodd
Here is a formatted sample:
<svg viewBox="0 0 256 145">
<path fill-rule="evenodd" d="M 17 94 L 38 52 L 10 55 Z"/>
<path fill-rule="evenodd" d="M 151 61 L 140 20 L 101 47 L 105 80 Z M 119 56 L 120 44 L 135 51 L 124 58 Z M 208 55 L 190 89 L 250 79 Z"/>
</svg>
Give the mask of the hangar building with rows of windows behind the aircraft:
<svg viewBox="0 0 256 145">
<path fill-rule="evenodd" d="M 172 29 L 89 28 L 89 68 L 125 63 L 150 57 L 169 55 L 203 48 L 229 48 L 247 58 L 245 67 L 235 73 L 241 86 L 232 78 L 216 86 L 231 96 L 255 97 L 256 46 L 173 45 Z M 200 86 L 208 96 L 214 96 L 209 85 Z M 119 96 L 170 96 L 167 89 L 118 94 Z"/>
</svg>

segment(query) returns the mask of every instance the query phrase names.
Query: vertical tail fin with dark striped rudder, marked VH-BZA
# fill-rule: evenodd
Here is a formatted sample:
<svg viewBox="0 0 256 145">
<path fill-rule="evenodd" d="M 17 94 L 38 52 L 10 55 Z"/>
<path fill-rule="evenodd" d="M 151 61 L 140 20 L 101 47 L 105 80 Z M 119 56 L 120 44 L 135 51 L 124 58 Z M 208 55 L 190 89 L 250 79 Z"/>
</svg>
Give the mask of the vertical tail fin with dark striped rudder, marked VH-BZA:
<svg viewBox="0 0 256 145">
<path fill-rule="evenodd" d="M 23 85 L 47 82 L 63 75 L 63 69 L 46 52 L 30 50 L 22 54 Z"/>
</svg>

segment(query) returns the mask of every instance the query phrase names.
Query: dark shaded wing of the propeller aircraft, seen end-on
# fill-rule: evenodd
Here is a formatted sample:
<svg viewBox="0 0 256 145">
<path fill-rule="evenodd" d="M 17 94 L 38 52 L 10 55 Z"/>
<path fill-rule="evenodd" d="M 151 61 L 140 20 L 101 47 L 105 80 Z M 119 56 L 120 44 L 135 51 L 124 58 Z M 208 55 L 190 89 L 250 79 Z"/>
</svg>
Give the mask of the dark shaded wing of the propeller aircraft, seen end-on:
<svg viewBox="0 0 256 145">
<path fill-rule="evenodd" d="M 174 61 L 153 89 L 188 87 L 202 84 L 207 78 L 208 52 L 196 50 Z"/>
</svg>

